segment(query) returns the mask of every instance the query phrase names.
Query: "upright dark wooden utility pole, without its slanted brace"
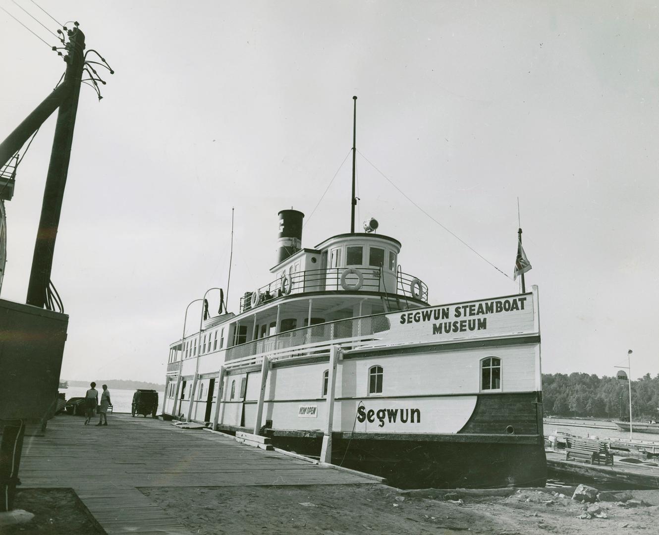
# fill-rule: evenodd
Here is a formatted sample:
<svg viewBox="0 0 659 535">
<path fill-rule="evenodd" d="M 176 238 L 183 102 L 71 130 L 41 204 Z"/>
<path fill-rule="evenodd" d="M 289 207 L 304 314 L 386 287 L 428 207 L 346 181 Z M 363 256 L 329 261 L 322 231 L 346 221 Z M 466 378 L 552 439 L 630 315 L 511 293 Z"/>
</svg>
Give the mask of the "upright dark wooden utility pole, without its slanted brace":
<svg viewBox="0 0 659 535">
<path fill-rule="evenodd" d="M 78 96 L 80 96 L 82 69 L 84 68 L 84 46 L 84 34 L 79 28 L 73 28 L 69 36 L 69 53 L 65 58 L 67 70 L 64 74 L 64 82 L 69 85 L 69 94 L 63 99 L 57 114 L 26 300 L 27 304 L 39 308 L 43 308 L 47 302 L 46 295 L 53 267 L 55 238 L 69 173 L 73 128 L 78 111 Z"/>
</svg>

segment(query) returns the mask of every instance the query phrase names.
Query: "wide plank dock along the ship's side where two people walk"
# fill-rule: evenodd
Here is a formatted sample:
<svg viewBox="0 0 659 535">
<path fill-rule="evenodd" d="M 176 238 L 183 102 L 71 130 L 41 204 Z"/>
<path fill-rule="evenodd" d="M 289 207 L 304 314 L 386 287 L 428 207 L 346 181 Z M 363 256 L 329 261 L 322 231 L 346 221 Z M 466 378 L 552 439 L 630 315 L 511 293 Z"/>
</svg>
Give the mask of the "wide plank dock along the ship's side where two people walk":
<svg viewBox="0 0 659 535">
<path fill-rule="evenodd" d="M 70 487 L 109 535 L 186 534 L 142 487 L 373 484 L 356 473 L 240 445 L 202 430 L 114 414 L 108 426 L 56 416 L 26 436 L 20 488 Z"/>
</svg>

